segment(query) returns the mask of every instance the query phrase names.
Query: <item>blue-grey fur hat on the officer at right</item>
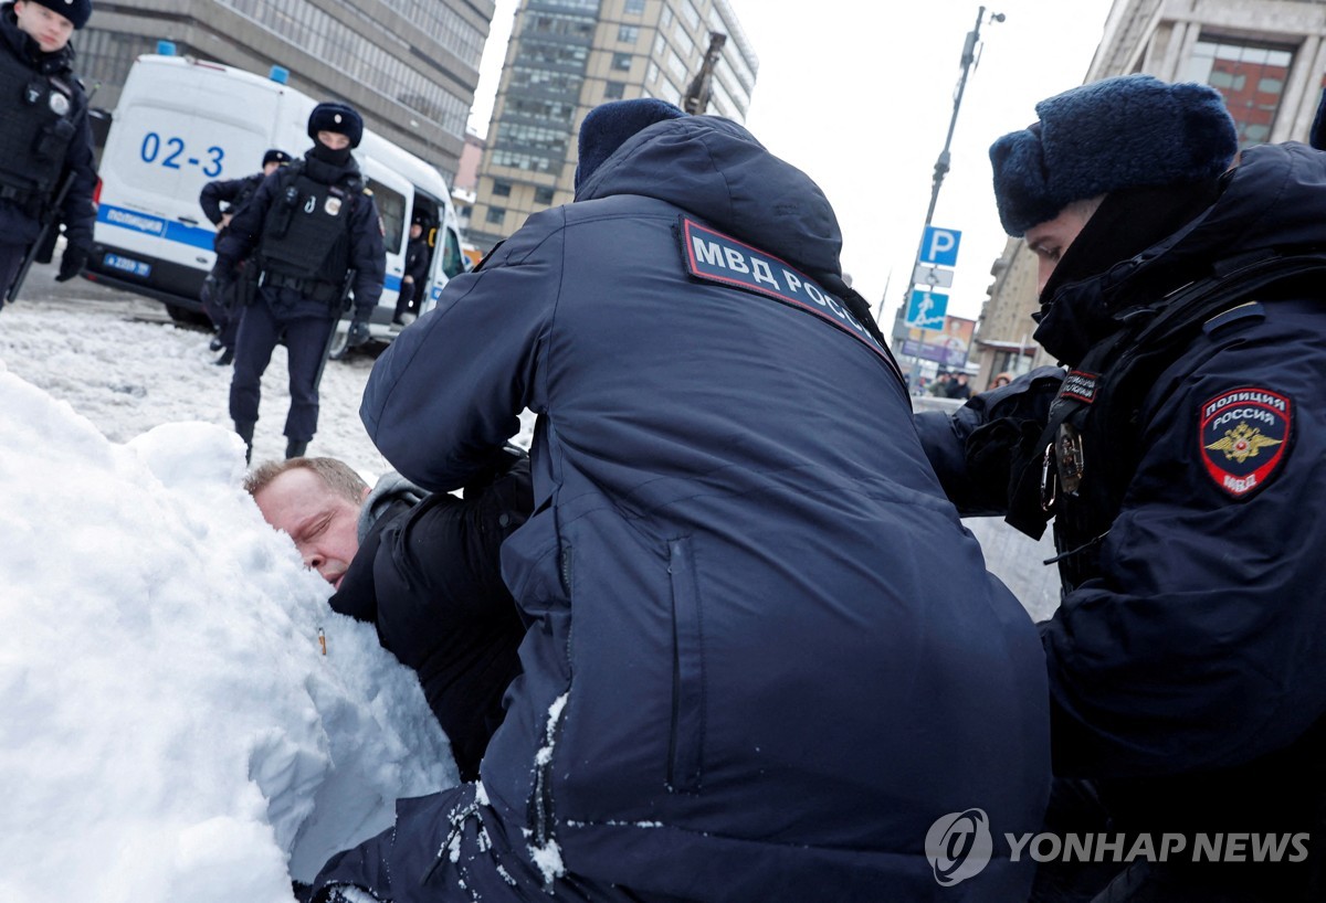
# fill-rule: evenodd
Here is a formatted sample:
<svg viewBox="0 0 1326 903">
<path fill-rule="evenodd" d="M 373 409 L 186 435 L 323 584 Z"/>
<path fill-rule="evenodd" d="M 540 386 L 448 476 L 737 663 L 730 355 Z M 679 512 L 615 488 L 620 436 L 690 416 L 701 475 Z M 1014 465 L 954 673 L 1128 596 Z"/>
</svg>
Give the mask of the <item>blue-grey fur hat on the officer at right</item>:
<svg viewBox="0 0 1326 903">
<path fill-rule="evenodd" d="M 1036 105 L 1040 122 L 991 146 L 994 200 L 1010 236 L 1073 201 L 1219 176 L 1238 151 L 1220 91 L 1151 75 L 1106 78 Z"/>
</svg>

